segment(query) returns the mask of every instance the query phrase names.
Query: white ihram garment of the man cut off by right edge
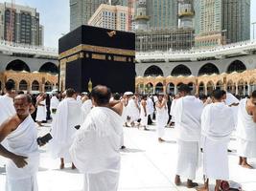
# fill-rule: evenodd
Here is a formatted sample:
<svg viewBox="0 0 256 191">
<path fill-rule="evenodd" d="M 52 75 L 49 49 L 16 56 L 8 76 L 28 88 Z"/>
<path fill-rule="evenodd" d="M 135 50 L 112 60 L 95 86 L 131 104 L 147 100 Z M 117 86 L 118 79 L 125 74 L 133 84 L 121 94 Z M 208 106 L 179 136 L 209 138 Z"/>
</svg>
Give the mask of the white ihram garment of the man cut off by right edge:
<svg viewBox="0 0 256 191">
<path fill-rule="evenodd" d="M 244 158 L 256 158 L 256 123 L 246 110 L 246 101 L 240 101 L 238 110 L 238 155 Z"/>
</svg>

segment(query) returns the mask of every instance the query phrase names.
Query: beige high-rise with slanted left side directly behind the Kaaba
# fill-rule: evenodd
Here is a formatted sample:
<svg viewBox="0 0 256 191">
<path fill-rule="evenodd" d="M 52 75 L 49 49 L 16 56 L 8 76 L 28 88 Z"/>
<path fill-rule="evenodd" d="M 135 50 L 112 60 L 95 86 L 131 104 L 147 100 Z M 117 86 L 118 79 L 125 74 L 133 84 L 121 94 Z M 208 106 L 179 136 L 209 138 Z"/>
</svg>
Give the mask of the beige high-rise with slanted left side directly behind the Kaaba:
<svg viewBox="0 0 256 191">
<path fill-rule="evenodd" d="M 134 17 L 133 10 L 131 10 L 131 17 Z M 128 23 L 128 7 L 106 4 L 102 4 L 88 21 L 88 25 L 91 26 L 126 32 L 129 29 L 134 30 L 134 24 L 132 24 L 132 22 Z"/>
</svg>

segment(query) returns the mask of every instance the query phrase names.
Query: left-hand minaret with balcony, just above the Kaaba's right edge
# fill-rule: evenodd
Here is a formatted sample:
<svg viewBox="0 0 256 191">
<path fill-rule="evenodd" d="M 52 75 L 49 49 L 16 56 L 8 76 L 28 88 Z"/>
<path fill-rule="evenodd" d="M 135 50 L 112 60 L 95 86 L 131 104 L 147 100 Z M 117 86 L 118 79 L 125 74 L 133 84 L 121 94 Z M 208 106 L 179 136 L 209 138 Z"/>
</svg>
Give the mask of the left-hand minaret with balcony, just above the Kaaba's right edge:
<svg viewBox="0 0 256 191">
<path fill-rule="evenodd" d="M 147 31 L 150 17 L 147 15 L 147 0 L 138 0 L 135 14 L 135 30 Z"/>
</svg>

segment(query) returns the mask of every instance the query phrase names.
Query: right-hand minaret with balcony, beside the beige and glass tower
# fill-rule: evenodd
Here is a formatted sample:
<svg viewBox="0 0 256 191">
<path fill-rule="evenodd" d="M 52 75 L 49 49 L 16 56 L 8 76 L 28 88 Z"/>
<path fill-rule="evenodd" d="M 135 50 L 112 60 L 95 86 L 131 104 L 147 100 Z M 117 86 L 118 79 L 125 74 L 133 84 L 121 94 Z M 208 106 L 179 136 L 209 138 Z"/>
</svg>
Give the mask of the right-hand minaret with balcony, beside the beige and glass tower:
<svg viewBox="0 0 256 191">
<path fill-rule="evenodd" d="M 178 0 L 178 28 L 194 28 L 193 0 Z"/>
</svg>

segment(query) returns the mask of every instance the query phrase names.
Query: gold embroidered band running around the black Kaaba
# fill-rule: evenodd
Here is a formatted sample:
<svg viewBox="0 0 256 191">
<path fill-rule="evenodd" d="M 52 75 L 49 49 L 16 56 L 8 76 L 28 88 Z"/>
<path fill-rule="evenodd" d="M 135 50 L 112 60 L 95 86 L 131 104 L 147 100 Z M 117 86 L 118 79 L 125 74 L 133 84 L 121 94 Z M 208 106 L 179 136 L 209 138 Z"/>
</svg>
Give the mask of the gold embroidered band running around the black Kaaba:
<svg viewBox="0 0 256 191">
<path fill-rule="evenodd" d="M 135 56 L 135 51 L 131 50 L 124 50 L 124 49 L 116 49 L 116 48 L 109 48 L 109 47 L 101 47 L 101 46 L 94 46 L 94 45 L 79 45 L 74 47 L 68 51 L 60 53 L 58 59 L 62 59 L 74 53 L 80 53 L 81 51 L 85 52 L 93 52 L 93 53 L 109 53 L 109 54 L 118 54 L 118 55 L 125 55 L 125 56 Z"/>
</svg>

